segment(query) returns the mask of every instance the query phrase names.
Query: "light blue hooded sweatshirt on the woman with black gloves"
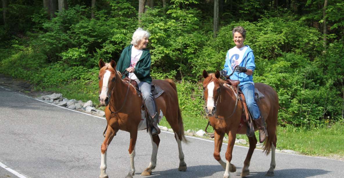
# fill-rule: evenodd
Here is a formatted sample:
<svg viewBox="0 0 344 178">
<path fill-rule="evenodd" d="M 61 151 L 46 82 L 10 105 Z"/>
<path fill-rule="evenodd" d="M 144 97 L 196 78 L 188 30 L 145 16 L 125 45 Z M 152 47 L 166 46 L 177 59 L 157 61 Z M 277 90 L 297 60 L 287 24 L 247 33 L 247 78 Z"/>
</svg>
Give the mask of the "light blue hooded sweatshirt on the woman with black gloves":
<svg viewBox="0 0 344 178">
<path fill-rule="evenodd" d="M 245 46 L 247 46 L 247 49 L 244 53 L 244 58 L 241 61 L 241 63 L 239 64 L 239 66 L 246 67 L 246 69 L 251 69 L 254 72 L 255 68 L 256 68 L 255 56 L 253 55 L 252 49 L 248 45 L 245 45 Z M 227 75 L 229 75 L 233 72 L 232 66 L 230 65 L 230 64 L 232 64 L 233 57 L 234 57 L 234 55 L 229 56 L 229 50 L 228 50 L 228 52 L 226 54 L 226 62 L 224 65 L 224 67 L 225 67 L 224 70 L 227 71 Z M 232 80 L 238 80 L 239 79 L 239 81 L 240 81 L 239 86 L 250 83 L 250 82 L 253 83 L 252 75 L 246 75 L 245 73 L 240 73 L 238 75 L 238 73 L 235 72 L 232 76 L 230 76 L 230 79 L 232 79 Z"/>
</svg>

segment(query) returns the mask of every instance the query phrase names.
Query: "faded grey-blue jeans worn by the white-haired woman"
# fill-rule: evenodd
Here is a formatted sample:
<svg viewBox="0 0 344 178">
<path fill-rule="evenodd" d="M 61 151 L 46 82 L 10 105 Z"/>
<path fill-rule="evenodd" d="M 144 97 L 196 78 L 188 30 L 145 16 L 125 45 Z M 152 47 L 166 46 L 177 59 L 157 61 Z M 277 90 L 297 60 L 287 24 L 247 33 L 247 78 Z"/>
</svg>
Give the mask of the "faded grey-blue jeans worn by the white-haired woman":
<svg viewBox="0 0 344 178">
<path fill-rule="evenodd" d="M 142 94 L 142 99 L 144 100 L 144 103 L 146 103 L 148 114 L 150 116 L 154 116 L 156 111 L 155 111 L 155 105 L 154 105 L 153 96 L 151 92 L 151 84 L 144 81 L 140 81 L 138 82 L 138 86 Z"/>
</svg>

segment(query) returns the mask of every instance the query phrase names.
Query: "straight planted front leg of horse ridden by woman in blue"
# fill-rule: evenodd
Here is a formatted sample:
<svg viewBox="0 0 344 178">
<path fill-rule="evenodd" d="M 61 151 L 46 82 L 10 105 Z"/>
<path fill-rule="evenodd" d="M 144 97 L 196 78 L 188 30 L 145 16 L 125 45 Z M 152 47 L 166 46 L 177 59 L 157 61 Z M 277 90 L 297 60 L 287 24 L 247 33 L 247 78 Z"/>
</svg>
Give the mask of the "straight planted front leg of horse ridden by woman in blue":
<svg viewBox="0 0 344 178">
<path fill-rule="evenodd" d="M 226 151 L 226 170 L 225 174 L 223 175 L 223 178 L 229 178 L 229 172 L 235 172 L 236 167 L 233 164 L 230 164 L 230 161 L 232 161 L 232 153 L 235 143 L 235 131 L 229 131 L 228 133 L 228 146 Z"/>
</svg>

